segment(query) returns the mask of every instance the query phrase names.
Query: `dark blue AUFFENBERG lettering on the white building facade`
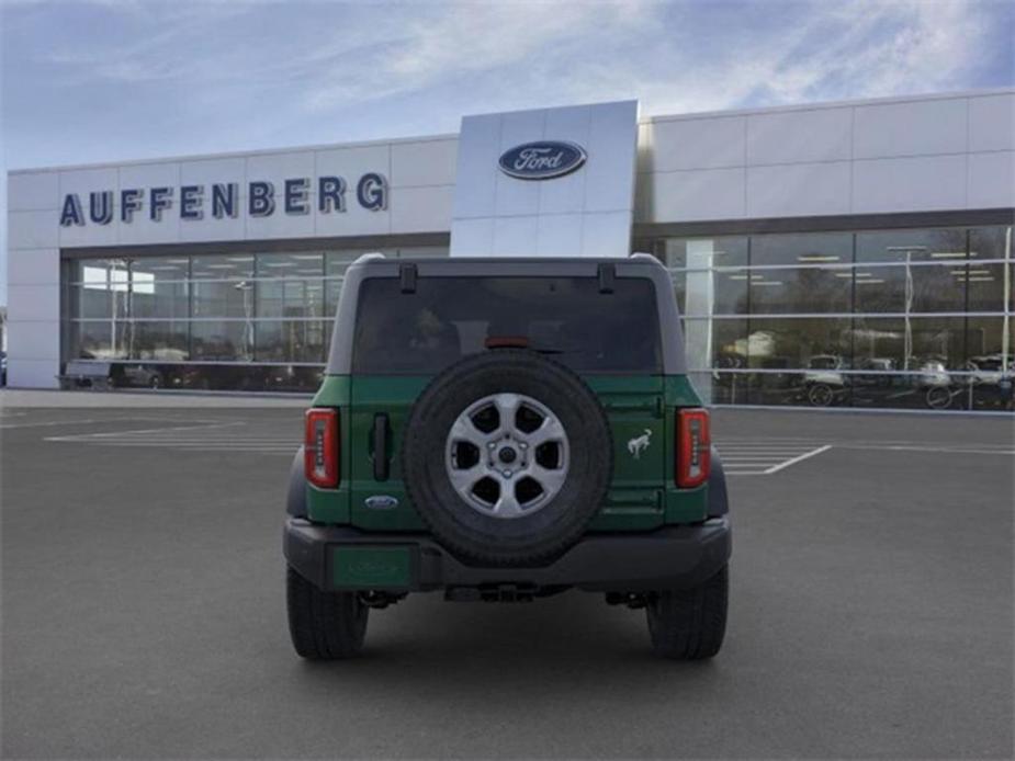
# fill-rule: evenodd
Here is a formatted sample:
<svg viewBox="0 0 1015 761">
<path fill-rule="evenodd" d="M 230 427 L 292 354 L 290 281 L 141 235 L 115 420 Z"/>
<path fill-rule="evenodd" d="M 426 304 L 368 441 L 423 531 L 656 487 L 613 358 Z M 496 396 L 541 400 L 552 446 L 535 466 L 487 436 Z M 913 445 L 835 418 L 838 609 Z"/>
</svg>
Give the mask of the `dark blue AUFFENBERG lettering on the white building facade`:
<svg viewBox="0 0 1015 761">
<path fill-rule="evenodd" d="M 247 214 L 251 217 L 270 217 L 277 207 L 281 207 L 285 214 L 309 214 L 311 188 L 309 178 L 284 180 L 280 188 L 273 182 L 262 180 L 248 182 Z M 345 213 L 349 190 L 345 178 L 319 177 L 316 190 L 318 213 Z M 387 208 L 387 180 L 377 172 L 366 172 L 356 183 L 356 203 L 370 212 Z M 109 225 L 113 222 L 117 200 L 120 222 L 127 225 L 137 214 L 147 214 L 153 222 L 162 222 L 170 214 L 178 214 L 180 219 L 203 219 L 206 211 L 211 212 L 215 219 L 236 218 L 240 214 L 238 182 L 179 188 L 127 188 L 119 192 L 119 198 L 115 196 L 116 193 L 111 190 L 91 192 L 88 194 L 86 209 L 78 193 L 68 193 L 60 206 L 60 226 L 70 227 L 87 223 Z"/>
</svg>

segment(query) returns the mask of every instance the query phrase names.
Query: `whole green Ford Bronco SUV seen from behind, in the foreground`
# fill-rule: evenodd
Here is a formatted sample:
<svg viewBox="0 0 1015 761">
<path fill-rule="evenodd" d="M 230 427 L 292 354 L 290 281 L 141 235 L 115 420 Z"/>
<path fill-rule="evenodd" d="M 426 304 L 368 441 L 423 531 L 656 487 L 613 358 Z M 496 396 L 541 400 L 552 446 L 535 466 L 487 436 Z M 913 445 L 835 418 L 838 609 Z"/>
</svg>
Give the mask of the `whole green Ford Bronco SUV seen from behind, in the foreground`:
<svg viewBox="0 0 1015 761">
<path fill-rule="evenodd" d="M 659 655 L 714 656 L 730 519 L 683 345 L 645 254 L 358 260 L 290 479 L 296 652 L 357 654 L 409 592 L 579 589 L 644 607 Z"/>
</svg>

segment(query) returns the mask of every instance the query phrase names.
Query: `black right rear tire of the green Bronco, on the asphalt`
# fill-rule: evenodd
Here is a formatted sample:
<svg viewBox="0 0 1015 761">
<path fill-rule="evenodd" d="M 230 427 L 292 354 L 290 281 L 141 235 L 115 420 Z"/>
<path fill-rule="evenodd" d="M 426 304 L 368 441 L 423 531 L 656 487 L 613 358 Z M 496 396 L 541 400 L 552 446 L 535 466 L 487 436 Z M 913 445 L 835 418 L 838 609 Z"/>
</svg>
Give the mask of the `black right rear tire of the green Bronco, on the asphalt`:
<svg viewBox="0 0 1015 761">
<path fill-rule="evenodd" d="M 657 592 L 646 605 L 652 649 L 664 658 L 701 660 L 722 647 L 730 593 L 729 566 L 689 590 Z"/>
</svg>

